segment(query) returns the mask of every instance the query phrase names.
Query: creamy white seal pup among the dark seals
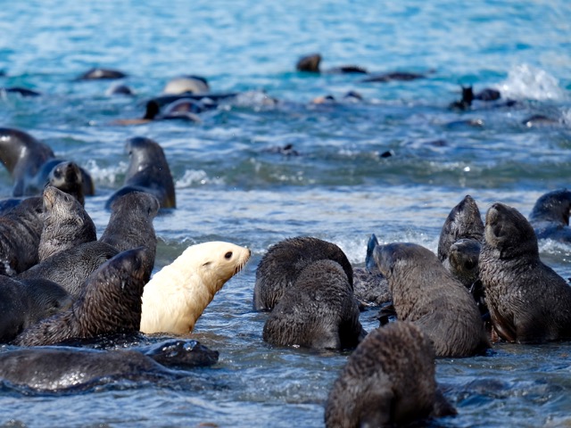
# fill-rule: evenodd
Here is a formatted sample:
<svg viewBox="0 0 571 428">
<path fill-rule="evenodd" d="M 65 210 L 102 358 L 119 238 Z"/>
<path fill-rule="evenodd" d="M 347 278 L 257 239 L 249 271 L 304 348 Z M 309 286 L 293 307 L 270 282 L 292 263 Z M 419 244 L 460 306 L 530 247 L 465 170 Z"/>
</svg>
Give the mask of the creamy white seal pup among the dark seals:
<svg viewBox="0 0 571 428">
<path fill-rule="evenodd" d="M 192 333 L 214 294 L 244 268 L 250 252 L 221 241 L 186 248 L 145 285 L 141 332 Z"/>
</svg>

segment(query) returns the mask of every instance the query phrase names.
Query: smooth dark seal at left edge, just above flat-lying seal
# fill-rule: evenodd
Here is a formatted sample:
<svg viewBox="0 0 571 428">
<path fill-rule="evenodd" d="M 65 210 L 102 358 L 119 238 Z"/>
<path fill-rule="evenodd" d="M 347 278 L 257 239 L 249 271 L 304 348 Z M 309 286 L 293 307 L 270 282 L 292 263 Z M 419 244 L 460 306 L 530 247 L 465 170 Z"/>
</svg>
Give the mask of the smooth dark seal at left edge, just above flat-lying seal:
<svg viewBox="0 0 571 428">
<path fill-rule="evenodd" d="M 0 275 L 0 343 L 70 306 L 70 294 L 52 281 Z"/>
</svg>

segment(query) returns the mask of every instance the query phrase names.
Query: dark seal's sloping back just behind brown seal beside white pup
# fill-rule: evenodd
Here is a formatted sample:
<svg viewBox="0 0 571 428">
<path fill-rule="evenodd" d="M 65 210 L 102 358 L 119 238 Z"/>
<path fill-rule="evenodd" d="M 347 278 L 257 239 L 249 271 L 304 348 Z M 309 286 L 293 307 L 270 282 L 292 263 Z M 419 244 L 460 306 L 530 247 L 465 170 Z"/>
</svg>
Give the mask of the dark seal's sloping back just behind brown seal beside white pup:
<svg viewBox="0 0 571 428">
<path fill-rule="evenodd" d="M 25 270 L 18 279 L 43 278 L 54 281 L 73 296 L 79 297 L 88 276 L 119 253 L 108 243 L 92 241 L 60 251 Z"/>
</svg>

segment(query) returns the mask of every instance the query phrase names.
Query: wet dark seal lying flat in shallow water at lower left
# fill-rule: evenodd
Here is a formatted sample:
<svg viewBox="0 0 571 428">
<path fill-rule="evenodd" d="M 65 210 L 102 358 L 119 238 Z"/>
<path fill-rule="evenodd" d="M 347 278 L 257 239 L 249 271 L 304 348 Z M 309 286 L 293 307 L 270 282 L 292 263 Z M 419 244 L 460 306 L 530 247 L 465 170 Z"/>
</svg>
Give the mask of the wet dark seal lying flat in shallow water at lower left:
<svg viewBox="0 0 571 428">
<path fill-rule="evenodd" d="M 196 341 L 159 342 L 149 350 L 42 346 L 0 352 L 0 381 L 35 391 L 78 391 L 113 381 L 178 379 L 216 364 L 219 352 Z M 175 369 L 175 370 L 173 370 Z"/>
</svg>

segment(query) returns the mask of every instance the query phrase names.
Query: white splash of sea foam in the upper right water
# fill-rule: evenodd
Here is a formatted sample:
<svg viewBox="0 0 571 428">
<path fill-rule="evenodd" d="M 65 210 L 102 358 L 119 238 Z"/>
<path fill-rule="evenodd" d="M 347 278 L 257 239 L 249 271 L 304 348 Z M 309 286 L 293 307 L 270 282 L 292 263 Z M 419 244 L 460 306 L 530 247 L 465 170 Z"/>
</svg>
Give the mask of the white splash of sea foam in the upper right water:
<svg viewBox="0 0 571 428">
<path fill-rule="evenodd" d="M 521 64 L 509 70 L 508 78 L 499 87 L 503 98 L 526 100 L 567 99 L 567 92 L 559 86 L 559 80 L 547 71 L 528 64 Z"/>
</svg>

